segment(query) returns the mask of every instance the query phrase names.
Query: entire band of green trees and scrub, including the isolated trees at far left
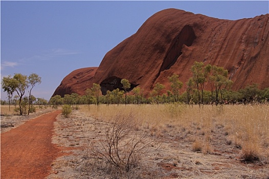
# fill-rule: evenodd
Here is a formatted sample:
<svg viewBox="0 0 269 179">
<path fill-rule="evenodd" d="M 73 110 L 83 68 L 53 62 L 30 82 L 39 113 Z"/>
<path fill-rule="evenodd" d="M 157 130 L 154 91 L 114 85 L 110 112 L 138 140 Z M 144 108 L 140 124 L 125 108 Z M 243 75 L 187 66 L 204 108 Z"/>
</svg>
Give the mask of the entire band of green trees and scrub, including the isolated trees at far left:
<svg viewBox="0 0 269 179">
<path fill-rule="evenodd" d="M 183 104 L 247 104 L 247 103 L 268 103 L 269 87 L 259 89 L 258 84 L 249 84 L 243 89 L 232 91 L 233 81 L 228 77 L 228 71 L 222 67 L 205 65 L 203 62 L 194 62 L 190 69 L 192 77 L 186 83 L 185 91 L 182 89 L 183 82 L 178 75 L 173 74 L 168 77 L 170 82 L 169 89 L 165 85 L 156 83 L 149 95 L 145 95 L 139 86 L 130 89 L 128 79 L 122 79 L 120 87 L 113 91 L 107 91 L 106 95 L 101 95 L 100 84 L 92 84 L 85 90 L 84 95 L 77 93 L 53 96 L 50 101 L 42 98 L 35 98 L 31 95 L 35 84 L 41 82 L 37 74 L 29 77 L 15 74 L 13 77 L 4 77 L 2 88 L 8 93 L 8 101 L 1 100 L 1 104 L 19 105 L 16 108 L 21 114 L 28 114 L 34 110 L 33 105 L 79 105 L 79 104 L 164 104 L 164 103 L 183 103 Z M 205 86 L 210 85 L 210 91 L 205 90 Z M 30 87 L 29 97 L 24 97 L 26 89 Z M 87 87 L 87 86 L 86 86 Z M 85 88 L 86 88 L 85 87 Z M 13 93 L 18 95 L 13 97 Z"/>
</svg>

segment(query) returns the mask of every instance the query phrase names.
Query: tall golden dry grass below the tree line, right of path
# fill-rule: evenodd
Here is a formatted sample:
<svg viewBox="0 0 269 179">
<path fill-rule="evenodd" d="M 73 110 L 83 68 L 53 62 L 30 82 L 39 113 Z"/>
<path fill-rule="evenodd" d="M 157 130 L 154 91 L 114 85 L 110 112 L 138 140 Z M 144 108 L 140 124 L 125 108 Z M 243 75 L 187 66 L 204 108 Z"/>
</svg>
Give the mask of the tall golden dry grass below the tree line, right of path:
<svg viewBox="0 0 269 179">
<path fill-rule="evenodd" d="M 163 136 L 168 128 L 173 132 L 186 131 L 204 136 L 203 151 L 211 150 L 212 132 L 219 129 L 231 140 L 232 145 L 242 148 L 242 157 L 253 154 L 256 158 L 269 156 L 269 106 L 268 105 L 100 105 L 82 106 L 81 111 L 95 119 L 109 122 L 116 114 L 132 113 L 140 121 L 140 127 L 148 128 L 155 135 Z M 195 145 L 195 144 L 194 144 Z"/>
</svg>

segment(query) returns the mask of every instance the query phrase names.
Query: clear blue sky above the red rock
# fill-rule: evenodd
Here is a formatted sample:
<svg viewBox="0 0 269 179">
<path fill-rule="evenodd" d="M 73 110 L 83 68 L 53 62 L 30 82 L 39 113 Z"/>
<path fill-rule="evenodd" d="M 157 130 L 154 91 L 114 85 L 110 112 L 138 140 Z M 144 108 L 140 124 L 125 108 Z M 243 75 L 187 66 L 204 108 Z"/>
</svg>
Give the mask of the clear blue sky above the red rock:
<svg viewBox="0 0 269 179">
<path fill-rule="evenodd" d="M 42 83 L 33 95 L 49 100 L 66 75 L 99 66 L 106 52 L 167 8 L 230 20 L 269 13 L 268 1 L 1 1 L 1 80 L 36 73 Z"/>
</svg>

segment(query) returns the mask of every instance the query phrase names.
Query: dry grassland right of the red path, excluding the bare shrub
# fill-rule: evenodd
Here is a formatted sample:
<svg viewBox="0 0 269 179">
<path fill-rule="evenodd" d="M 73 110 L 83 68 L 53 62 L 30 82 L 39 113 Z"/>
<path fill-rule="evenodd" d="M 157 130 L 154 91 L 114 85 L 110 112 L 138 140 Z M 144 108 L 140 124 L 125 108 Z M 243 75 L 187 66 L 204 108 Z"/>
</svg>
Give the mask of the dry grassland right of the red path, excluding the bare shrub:
<svg viewBox="0 0 269 179">
<path fill-rule="evenodd" d="M 147 146 L 150 152 L 136 153 L 136 165 L 128 171 L 91 155 L 92 144 L 96 151 L 111 145 L 106 129 L 119 114 L 131 114 L 131 130 L 145 131 L 156 141 Z M 55 144 L 74 150 L 54 162 L 48 178 L 269 176 L 268 105 L 83 105 L 70 118 L 59 117 L 55 133 Z"/>
</svg>

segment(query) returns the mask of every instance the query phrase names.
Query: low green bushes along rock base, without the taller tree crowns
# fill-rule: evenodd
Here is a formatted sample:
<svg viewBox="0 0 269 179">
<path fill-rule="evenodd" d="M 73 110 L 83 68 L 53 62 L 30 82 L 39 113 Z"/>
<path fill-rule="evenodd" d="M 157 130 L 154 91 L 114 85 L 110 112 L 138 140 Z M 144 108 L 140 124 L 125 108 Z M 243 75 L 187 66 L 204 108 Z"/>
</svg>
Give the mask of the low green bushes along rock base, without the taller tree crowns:
<svg viewBox="0 0 269 179">
<path fill-rule="evenodd" d="M 168 92 L 168 94 L 156 95 L 146 98 L 143 93 L 141 93 L 140 88 L 134 88 L 133 91 L 136 91 L 133 95 L 126 96 L 126 104 L 168 104 L 168 103 L 180 103 L 180 104 L 189 104 L 194 105 L 198 104 L 198 93 L 196 90 L 193 91 L 191 100 L 188 100 L 187 92 L 184 92 L 180 95 L 177 95 L 176 98 Z M 139 92 L 137 92 L 139 91 Z M 118 88 L 113 92 L 108 92 L 105 96 L 98 96 L 98 105 L 99 104 L 125 104 L 124 93 Z M 213 93 L 214 95 L 214 93 Z M 176 99 L 176 100 L 175 100 Z M 216 105 L 215 102 L 212 102 L 211 92 L 204 90 L 203 92 L 203 104 Z M 213 99 L 215 99 L 213 97 Z M 219 105 L 223 104 L 268 104 L 269 100 L 269 88 L 259 89 L 257 84 L 246 86 L 244 89 L 239 91 L 224 90 L 222 92 L 222 100 L 218 102 Z M 177 102 L 176 102 L 177 101 Z M 50 103 L 53 106 L 59 106 L 63 104 L 69 105 L 80 105 L 80 104 L 97 104 L 97 98 L 93 95 L 83 95 L 79 96 L 76 93 L 71 95 L 64 95 L 62 98 L 59 95 L 56 95 L 51 98 Z M 201 103 L 200 103 L 201 104 Z"/>
</svg>

